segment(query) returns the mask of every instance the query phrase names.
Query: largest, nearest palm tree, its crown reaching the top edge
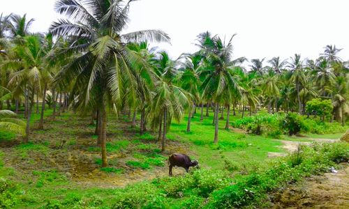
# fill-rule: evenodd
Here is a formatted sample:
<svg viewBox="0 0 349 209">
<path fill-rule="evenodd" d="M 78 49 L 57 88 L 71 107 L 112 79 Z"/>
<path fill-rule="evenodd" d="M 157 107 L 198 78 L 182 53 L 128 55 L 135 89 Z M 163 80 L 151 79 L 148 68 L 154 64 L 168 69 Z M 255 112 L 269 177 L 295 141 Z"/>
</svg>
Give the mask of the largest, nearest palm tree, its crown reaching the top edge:
<svg viewBox="0 0 349 209">
<path fill-rule="evenodd" d="M 133 63 L 147 63 L 133 50 L 128 42 L 169 41 L 163 31 L 145 30 L 122 34 L 128 24 L 131 1 L 122 0 L 59 0 L 55 9 L 66 20 L 54 22 L 50 32 L 54 36 L 68 37 L 70 47 L 66 54 L 80 52 L 71 63 L 57 75 L 57 82 L 69 84 L 74 81 L 70 98 L 81 103 L 92 102 L 101 113 L 102 167 L 107 167 L 106 126 L 107 107 L 124 98 L 123 89 L 134 82 Z M 134 88 L 135 89 L 135 88 Z"/>
</svg>

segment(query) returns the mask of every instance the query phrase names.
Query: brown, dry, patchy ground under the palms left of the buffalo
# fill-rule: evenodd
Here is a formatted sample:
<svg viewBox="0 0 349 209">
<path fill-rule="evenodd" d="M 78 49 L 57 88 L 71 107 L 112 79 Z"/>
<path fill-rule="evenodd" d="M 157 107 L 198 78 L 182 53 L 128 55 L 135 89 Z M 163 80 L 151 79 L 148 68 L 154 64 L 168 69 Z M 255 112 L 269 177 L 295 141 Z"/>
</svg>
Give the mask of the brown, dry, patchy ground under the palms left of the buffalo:
<svg viewBox="0 0 349 209">
<path fill-rule="evenodd" d="M 47 118 L 45 131 L 33 130 L 29 139 L 34 144 L 48 144 L 47 150 L 27 150 L 27 155 L 22 156 L 17 147 L 21 144 L 18 138 L 12 141 L 1 141 L 0 150 L 3 155 L 5 167 L 13 168 L 15 174 L 13 178 L 22 179 L 25 183 L 29 179 L 35 180 L 33 171 L 57 170 L 63 173 L 67 178 L 80 185 L 81 187 L 124 187 L 129 183 L 136 183 L 142 180 L 150 180 L 160 176 L 168 176 L 168 162 L 164 160 L 165 166 L 151 166 L 151 169 L 137 169 L 128 167 L 126 162 L 135 160 L 133 154 L 148 153 L 150 150 L 140 150 L 138 144 L 130 143 L 126 148 L 121 148 L 117 152 L 108 152 L 109 162 L 114 160 L 110 167 L 123 169 L 124 173 L 106 173 L 100 170 L 96 164 L 96 158 L 101 158 L 98 150 L 89 150 L 91 146 L 96 147 L 94 127 L 89 127 L 89 118 L 80 118 L 69 116 L 68 118 L 57 117 L 55 120 Z M 133 141 L 137 140 L 138 132 L 130 130 L 129 121 L 113 120 L 108 124 L 107 141 L 115 142 L 119 140 Z M 75 144 L 69 144 L 70 139 L 75 140 Z M 66 143 L 60 147 L 61 141 Z M 143 140 L 142 144 L 149 144 L 152 147 L 160 148 L 161 145 L 156 140 Z M 171 153 L 187 153 L 195 155 L 190 148 L 180 141 L 167 141 L 167 150 L 160 153 L 168 157 Z M 174 176 L 183 175 L 185 170 L 174 168 Z"/>
</svg>

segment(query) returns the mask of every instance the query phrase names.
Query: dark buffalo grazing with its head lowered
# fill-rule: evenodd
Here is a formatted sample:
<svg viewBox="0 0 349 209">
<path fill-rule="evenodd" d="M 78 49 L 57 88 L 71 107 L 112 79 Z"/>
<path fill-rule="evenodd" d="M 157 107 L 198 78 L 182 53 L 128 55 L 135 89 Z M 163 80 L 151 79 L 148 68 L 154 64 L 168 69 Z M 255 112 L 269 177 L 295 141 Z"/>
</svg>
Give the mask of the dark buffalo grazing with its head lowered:
<svg viewBox="0 0 349 209">
<path fill-rule="evenodd" d="M 168 157 L 168 162 L 170 164 L 168 171 L 170 176 L 172 176 L 172 167 L 182 167 L 186 169 L 186 172 L 188 173 L 189 167 L 196 167 L 199 164 L 197 160 L 191 160 L 191 158 L 188 155 L 177 153 L 170 155 L 170 157 Z"/>
</svg>

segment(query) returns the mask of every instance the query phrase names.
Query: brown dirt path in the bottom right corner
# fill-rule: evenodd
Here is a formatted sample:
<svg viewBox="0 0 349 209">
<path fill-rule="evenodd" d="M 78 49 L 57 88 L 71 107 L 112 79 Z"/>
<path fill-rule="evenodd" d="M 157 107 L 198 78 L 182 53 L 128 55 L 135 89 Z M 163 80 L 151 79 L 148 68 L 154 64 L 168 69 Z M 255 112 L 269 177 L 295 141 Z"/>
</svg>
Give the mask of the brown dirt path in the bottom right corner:
<svg viewBox="0 0 349 209">
<path fill-rule="evenodd" d="M 272 208 L 349 208 L 349 166 L 338 173 L 307 178 L 271 196 Z"/>
</svg>

